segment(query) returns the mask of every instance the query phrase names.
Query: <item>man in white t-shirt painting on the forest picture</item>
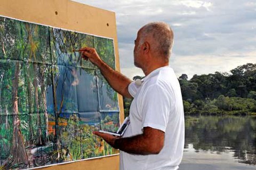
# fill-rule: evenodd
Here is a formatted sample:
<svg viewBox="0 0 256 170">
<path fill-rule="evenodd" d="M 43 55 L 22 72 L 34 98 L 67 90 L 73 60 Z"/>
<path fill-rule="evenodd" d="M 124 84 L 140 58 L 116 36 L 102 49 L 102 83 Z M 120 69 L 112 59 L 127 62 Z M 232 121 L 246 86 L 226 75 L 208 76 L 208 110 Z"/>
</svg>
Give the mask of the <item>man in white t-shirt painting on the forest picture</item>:
<svg viewBox="0 0 256 170">
<path fill-rule="evenodd" d="M 169 58 L 173 31 L 164 22 L 143 26 L 134 46 L 134 65 L 145 78 L 132 82 L 103 62 L 94 48 L 79 51 L 105 76 L 111 87 L 126 98 L 133 98 L 130 125 L 123 137 L 93 132 L 120 150 L 120 169 L 179 168 L 184 147 L 184 114 L 180 85 Z"/>
</svg>

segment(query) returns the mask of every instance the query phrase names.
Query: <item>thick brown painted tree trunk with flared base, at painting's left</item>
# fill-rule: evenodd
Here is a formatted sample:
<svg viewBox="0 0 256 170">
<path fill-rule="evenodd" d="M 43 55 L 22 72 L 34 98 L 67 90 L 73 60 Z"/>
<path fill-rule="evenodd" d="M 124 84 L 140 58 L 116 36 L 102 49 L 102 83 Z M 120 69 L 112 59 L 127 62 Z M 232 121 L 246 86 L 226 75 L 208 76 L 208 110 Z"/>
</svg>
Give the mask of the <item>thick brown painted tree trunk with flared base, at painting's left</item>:
<svg viewBox="0 0 256 170">
<path fill-rule="evenodd" d="M 13 100 L 13 139 L 12 139 L 12 158 L 4 168 L 10 169 L 16 164 L 29 165 L 27 152 L 23 142 L 23 136 L 20 131 L 20 119 L 18 116 L 18 84 L 19 84 L 19 63 L 15 63 L 14 79 L 12 80 L 12 100 Z"/>
</svg>

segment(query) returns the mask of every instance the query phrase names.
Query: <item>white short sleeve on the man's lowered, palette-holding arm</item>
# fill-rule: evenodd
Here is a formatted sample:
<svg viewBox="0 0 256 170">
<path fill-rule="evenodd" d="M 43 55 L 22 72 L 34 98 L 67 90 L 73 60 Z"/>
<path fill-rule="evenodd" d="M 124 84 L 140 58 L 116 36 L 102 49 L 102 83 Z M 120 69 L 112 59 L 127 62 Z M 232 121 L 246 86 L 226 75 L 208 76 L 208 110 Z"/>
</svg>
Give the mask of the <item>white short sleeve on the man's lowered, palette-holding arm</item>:
<svg viewBox="0 0 256 170">
<path fill-rule="evenodd" d="M 149 86 L 141 102 L 143 127 L 165 132 L 170 115 L 170 100 L 170 93 L 163 87 L 157 84 Z"/>
</svg>

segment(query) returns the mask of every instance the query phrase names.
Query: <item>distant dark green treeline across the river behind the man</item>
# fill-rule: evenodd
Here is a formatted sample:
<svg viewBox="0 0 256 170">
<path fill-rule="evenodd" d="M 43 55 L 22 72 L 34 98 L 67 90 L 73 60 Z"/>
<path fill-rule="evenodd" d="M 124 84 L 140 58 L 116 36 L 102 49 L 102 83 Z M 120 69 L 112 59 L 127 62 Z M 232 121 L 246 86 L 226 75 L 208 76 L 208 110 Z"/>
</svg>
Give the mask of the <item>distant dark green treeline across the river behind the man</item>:
<svg viewBox="0 0 256 170">
<path fill-rule="evenodd" d="M 179 77 L 185 114 L 256 114 L 256 64 L 227 72 Z M 134 79 L 140 78 L 135 76 Z M 131 100 L 124 99 L 125 114 Z"/>
</svg>

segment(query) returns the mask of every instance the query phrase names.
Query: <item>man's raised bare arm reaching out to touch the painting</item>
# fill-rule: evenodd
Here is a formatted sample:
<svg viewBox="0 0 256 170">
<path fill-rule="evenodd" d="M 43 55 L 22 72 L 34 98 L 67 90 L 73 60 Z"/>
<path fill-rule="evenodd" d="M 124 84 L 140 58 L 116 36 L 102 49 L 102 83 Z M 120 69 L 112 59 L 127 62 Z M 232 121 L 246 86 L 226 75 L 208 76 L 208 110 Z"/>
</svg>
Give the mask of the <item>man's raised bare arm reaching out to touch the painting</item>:
<svg viewBox="0 0 256 170">
<path fill-rule="evenodd" d="M 108 64 L 100 59 L 100 56 L 94 48 L 84 47 L 81 48 L 79 52 L 81 52 L 83 59 L 90 60 L 100 69 L 101 74 L 107 79 L 109 85 L 114 88 L 116 92 L 125 96 L 126 98 L 132 98 L 128 91 L 128 86 L 132 80 L 109 67 Z"/>
</svg>

